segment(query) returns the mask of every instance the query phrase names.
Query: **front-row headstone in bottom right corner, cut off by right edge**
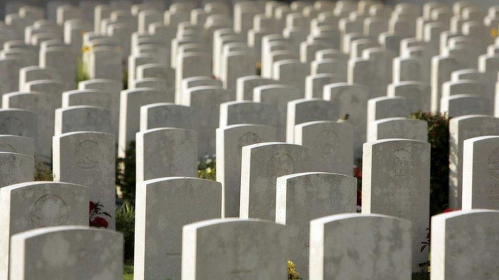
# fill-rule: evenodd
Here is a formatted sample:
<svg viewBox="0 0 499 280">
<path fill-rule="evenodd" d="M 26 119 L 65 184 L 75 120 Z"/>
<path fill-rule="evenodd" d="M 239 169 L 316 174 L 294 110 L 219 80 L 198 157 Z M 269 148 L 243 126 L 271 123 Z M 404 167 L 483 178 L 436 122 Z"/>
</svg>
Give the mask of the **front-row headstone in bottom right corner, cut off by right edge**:
<svg viewBox="0 0 499 280">
<path fill-rule="evenodd" d="M 499 277 L 499 211 L 463 210 L 432 217 L 432 278 Z"/>
</svg>

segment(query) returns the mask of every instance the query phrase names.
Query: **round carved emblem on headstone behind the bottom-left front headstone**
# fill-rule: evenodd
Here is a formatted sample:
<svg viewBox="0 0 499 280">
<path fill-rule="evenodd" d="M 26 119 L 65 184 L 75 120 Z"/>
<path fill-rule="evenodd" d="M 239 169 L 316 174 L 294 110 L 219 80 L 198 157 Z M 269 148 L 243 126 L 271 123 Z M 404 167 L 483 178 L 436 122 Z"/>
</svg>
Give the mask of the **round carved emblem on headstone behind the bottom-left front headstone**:
<svg viewBox="0 0 499 280">
<path fill-rule="evenodd" d="M 54 194 L 43 195 L 31 207 L 30 216 L 34 228 L 62 225 L 67 221 L 67 205 Z"/>
</svg>

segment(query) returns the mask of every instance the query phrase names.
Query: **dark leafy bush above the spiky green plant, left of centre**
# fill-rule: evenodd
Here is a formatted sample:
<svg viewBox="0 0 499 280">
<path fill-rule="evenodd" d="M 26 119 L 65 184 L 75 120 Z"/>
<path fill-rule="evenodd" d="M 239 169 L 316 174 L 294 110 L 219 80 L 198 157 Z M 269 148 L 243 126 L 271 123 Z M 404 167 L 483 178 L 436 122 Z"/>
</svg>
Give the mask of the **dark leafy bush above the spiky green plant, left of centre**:
<svg viewBox="0 0 499 280">
<path fill-rule="evenodd" d="M 135 141 L 125 151 L 125 158 L 116 159 L 116 186 L 123 204 L 135 205 Z"/>
</svg>

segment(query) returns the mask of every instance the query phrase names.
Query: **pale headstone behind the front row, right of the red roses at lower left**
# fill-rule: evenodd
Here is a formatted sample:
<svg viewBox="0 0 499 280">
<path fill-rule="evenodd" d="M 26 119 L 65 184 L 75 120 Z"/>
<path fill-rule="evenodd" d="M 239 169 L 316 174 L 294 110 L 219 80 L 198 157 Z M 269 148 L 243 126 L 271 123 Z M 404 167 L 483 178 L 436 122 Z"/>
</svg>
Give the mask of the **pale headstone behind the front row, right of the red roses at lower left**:
<svg viewBox="0 0 499 280">
<path fill-rule="evenodd" d="M 136 211 L 134 277 L 180 279 L 182 254 L 188 254 L 182 227 L 222 217 L 221 186 L 190 177 L 144 181 L 137 185 Z"/>
</svg>

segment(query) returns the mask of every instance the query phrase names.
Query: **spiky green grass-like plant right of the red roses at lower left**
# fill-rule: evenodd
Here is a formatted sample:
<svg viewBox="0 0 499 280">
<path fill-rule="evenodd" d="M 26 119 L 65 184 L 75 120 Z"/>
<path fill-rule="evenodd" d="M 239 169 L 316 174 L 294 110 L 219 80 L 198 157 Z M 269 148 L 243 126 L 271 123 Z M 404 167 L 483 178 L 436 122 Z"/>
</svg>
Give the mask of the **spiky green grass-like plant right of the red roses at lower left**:
<svg viewBox="0 0 499 280">
<path fill-rule="evenodd" d="M 123 233 L 125 264 L 133 264 L 133 246 L 135 244 L 135 210 L 133 207 L 123 205 L 116 210 L 116 231 Z"/>
</svg>

